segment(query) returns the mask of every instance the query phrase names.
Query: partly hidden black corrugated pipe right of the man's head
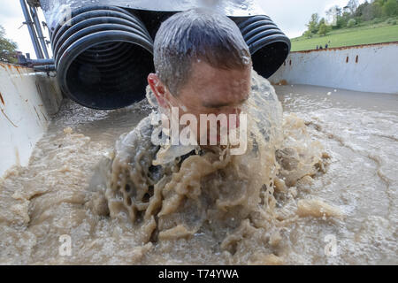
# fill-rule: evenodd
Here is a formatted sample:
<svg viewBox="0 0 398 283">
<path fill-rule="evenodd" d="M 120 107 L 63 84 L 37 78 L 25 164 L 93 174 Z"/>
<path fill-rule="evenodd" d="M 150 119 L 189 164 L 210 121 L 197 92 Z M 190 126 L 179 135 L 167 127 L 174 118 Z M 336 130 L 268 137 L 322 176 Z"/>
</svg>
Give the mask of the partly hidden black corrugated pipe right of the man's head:
<svg viewBox="0 0 398 283">
<path fill-rule="evenodd" d="M 267 16 L 234 20 L 248 43 L 253 68 L 268 79 L 286 60 L 291 47 L 290 40 Z"/>
</svg>

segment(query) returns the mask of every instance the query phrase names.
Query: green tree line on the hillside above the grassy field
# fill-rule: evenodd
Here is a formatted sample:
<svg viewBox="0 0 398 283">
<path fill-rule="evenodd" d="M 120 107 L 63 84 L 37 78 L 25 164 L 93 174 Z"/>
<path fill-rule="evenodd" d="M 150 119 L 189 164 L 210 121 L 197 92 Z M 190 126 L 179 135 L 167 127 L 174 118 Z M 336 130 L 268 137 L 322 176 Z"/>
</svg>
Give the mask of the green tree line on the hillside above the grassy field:
<svg viewBox="0 0 398 283">
<path fill-rule="evenodd" d="M 388 24 L 396 25 L 398 16 L 398 0 L 371 0 L 358 4 L 358 0 L 349 0 L 345 7 L 334 5 L 328 9 L 325 18 L 318 13 L 311 15 L 307 30 L 302 34 L 307 38 L 314 34 L 326 35 L 334 29 L 355 27 L 362 22 L 377 24 L 386 19 Z"/>
</svg>

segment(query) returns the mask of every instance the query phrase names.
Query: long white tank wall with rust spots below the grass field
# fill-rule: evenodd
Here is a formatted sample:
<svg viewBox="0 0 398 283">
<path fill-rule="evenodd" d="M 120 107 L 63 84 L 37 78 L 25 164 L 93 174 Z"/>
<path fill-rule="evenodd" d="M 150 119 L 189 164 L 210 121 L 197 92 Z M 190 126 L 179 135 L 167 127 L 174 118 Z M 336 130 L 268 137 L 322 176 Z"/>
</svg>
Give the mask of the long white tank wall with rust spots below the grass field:
<svg viewBox="0 0 398 283">
<path fill-rule="evenodd" d="M 398 94 L 398 42 L 292 52 L 269 80 Z"/>
</svg>

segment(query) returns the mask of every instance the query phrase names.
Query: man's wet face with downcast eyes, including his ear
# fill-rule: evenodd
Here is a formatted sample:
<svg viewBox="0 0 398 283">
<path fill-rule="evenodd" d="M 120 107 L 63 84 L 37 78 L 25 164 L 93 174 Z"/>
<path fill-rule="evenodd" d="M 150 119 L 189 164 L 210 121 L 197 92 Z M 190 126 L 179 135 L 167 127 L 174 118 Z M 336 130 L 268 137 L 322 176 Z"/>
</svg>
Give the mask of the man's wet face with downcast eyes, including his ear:
<svg viewBox="0 0 398 283">
<path fill-rule="evenodd" d="M 179 90 L 178 96 L 171 94 L 158 80 L 156 74 L 149 74 L 149 85 L 154 91 L 160 107 L 170 109 L 179 107 L 180 117 L 186 113 L 195 115 L 200 121 L 200 115 L 205 114 L 236 114 L 235 125 L 229 123 L 227 130 L 240 126 L 239 114 L 242 104 L 249 98 L 251 87 L 251 65 L 243 70 L 216 69 L 204 62 L 195 62 L 191 68 L 188 82 Z M 197 136 L 200 136 L 198 125 Z M 210 126 L 210 125 L 209 125 Z M 219 123 L 218 136 L 219 142 Z M 207 131 L 208 140 L 210 129 Z"/>
</svg>

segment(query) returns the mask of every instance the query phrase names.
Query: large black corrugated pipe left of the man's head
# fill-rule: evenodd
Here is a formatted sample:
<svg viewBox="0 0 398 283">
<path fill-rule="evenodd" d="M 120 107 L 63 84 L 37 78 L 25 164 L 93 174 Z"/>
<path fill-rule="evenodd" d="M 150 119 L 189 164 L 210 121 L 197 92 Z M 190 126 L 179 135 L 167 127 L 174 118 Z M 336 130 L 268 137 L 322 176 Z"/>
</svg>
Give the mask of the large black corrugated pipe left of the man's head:
<svg viewBox="0 0 398 283">
<path fill-rule="evenodd" d="M 65 95 L 102 110 L 142 100 L 153 72 L 153 41 L 140 19 L 116 6 L 94 5 L 61 22 L 51 43 Z"/>
</svg>

